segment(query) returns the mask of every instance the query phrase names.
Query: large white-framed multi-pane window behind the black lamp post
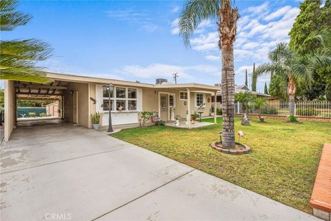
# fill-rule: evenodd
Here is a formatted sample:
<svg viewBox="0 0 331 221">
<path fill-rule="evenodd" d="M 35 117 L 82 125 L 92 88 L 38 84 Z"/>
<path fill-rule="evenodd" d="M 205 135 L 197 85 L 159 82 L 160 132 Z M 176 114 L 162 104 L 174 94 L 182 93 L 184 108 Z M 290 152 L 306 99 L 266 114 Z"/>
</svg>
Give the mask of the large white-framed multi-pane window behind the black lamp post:
<svg viewBox="0 0 331 221">
<path fill-rule="evenodd" d="M 111 111 L 137 111 L 137 88 L 103 88 L 103 111 L 109 111 L 109 93 Z"/>
</svg>

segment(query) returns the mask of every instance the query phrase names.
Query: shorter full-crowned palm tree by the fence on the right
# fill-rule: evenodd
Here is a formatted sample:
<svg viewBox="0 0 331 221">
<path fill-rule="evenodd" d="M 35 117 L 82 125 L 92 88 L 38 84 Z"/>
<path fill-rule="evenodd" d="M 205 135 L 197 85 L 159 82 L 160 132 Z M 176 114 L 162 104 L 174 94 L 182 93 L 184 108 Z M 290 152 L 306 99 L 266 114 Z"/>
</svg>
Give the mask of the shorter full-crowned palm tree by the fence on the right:
<svg viewBox="0 0 331 221">
<path fill-rule="evenodd" d="M 281 79 L 279 87 L 286 89 L 288 94 L 290 115 L 294 115 L 297 84 L 303 82 L 309 86 L 313 80 L 314 70 L 331 65 L 330 50 L 317 50 L 301 56 L 290 50 L 287 43 L 277 44 L 276 48 L 269 52 L 268 58 L 270 63 L 260 65 L 255 70 L 255 75 L 274 73 Z"/>
</svg>

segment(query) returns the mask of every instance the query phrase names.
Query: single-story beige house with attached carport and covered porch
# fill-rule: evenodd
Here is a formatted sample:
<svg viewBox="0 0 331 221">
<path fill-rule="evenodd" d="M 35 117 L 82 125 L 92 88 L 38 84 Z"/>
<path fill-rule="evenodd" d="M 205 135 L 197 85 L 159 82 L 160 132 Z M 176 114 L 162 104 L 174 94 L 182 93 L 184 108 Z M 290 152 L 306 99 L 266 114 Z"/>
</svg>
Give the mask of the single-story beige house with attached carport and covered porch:
<svg viewBox="0 0 331 221">
<path fill-rule="evenodd" d="M 5 80 L 5 139 L 16 124 L 17 99 L 52 99 L 59 102 L 60 116 L 67 122 L 91 128 L 91 114 L 101 113 L 101 126 L 108 125 L 109 109 L 112 124 L 139 122 L 141 111 L 155 111 L 164 121 L 190 119 L 190 114 L 210 115 L 212 96 L 218 86 L 205 84 L 169 84 L 162 79 L 157 84 L 81 77 L 48 73 L 52 84 L 34 84 Z M 114 85 L 109 107 L 109 91 L 103 84 Z M 216 121 L 216 117 L 215 117 Z M 190 120 L 188 120 L 190 127 Z"/>
</svg>

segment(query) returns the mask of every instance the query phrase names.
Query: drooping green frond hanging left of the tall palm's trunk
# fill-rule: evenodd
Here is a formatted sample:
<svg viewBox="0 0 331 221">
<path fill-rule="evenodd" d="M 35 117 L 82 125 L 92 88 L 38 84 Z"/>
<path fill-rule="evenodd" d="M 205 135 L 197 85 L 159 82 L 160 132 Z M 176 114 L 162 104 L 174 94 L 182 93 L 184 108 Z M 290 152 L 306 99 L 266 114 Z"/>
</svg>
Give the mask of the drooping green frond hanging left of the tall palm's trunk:
<svg viewBox="0 0 331 221">
<path fill-rule="evenodd" d="M 224 0 L 189 0 L 184 3 L 179 17 L 179 35 L 186 48 L 190 47 L 190 37 L 201 21 L 219 18 L 219 8 Z"/>
</svg>

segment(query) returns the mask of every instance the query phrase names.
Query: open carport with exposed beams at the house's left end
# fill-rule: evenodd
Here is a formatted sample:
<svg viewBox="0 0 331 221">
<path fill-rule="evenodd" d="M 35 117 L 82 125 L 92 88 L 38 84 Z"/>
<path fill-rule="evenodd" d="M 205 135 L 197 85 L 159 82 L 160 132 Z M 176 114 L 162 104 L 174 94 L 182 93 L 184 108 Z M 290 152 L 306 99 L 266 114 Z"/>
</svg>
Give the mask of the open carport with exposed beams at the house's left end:
<svg viewBox="0 0 331 221">
<path fill-rule="evenodd" d="M 17 124 L 19 99 L 55 100 L 59 102 L 59 119 L 90 128 L 90 84 L 86 81 L 70 81 L 65 75 L 55 73 L 48 73 L 48 77 L 52 79 L 50 84 L 5 80 L 5 141 L 10 140 L 12 131 L 19 126 Z M 47 119 L 43 121 L 46 122 Z"/>
</svg>

